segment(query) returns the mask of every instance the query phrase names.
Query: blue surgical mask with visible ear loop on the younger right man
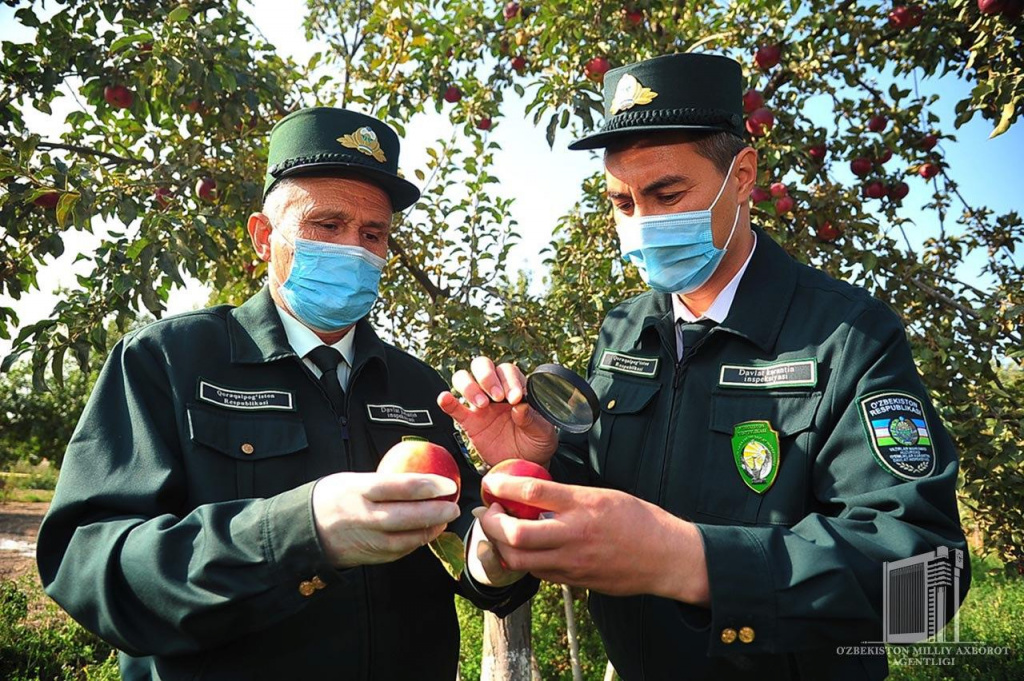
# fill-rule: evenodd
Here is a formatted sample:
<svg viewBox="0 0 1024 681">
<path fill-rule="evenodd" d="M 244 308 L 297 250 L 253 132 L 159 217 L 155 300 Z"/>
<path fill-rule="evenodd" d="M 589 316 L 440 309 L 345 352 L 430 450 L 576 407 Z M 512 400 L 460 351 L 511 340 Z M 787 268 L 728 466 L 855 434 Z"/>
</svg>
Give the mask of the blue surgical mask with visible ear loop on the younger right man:
<svg viewBox="0 0 1024 681">
<path fill-rule="evenodd" d="M 732 160 L 735 163 L 735 158 Z M 711 211 L 732 175 L 732 163 L 711 208 L 668 215 L 620 218 L 616 227 L 623 257 L 640 270 L 650 288 L 662 293 L 692 293 L 715 273 L 739 222 L 739 206 L 725 246 L 718 248 L 711 228 Z"/>
</svg>

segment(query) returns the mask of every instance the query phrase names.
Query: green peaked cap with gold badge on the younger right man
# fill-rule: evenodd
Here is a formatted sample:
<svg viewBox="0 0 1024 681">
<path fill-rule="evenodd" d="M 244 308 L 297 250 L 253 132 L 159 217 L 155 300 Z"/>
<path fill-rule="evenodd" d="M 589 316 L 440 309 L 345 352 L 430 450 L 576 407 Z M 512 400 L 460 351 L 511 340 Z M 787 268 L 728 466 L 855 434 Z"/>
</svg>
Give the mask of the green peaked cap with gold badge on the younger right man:
<svg viewBox="0 0 1024 681">
<path fill-rule="evenodd" d="M 666 54 L 612 69 L 604 75 L 604 127 L 569 148 L 666 130 L 744 137 L 742 81 L 739 63 L 717 54 Z"/>
</svg>

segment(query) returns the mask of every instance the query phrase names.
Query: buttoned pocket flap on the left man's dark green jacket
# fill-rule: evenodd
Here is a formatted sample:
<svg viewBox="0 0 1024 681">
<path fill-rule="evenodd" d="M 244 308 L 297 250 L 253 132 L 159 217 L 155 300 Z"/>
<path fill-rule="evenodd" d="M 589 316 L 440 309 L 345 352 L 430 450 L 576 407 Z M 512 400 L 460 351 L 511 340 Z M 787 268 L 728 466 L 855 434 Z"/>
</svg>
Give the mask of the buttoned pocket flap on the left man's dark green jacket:
<svg viewBox="0 0 1024 681">
<path fill-rule="evenodd" d="M 225 414 L 198 405 L 188 407 L 194 442 L 244 461 L 281 457 L 309 446 L 302 421 L 282 414 Z"/>
</svg>

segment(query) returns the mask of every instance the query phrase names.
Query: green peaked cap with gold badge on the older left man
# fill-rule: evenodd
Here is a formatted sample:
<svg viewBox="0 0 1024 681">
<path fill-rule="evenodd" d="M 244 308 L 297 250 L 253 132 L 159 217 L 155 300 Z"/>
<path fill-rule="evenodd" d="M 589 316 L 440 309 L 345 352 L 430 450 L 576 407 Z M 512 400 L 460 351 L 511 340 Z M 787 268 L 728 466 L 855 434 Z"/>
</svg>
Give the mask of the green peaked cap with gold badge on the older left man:
<svg viewBox="0 0 1024 681">
<path fill-rule="evenodd" d="M 285 177 L 356 173 L 387 191 L 393 211 L 404 210 L 420 190 L 398 176 L 398 150 L 395 131 L 372 116 L 330 107 L 293 112 L 270 131 L 263 197 Z"/>
</svg>

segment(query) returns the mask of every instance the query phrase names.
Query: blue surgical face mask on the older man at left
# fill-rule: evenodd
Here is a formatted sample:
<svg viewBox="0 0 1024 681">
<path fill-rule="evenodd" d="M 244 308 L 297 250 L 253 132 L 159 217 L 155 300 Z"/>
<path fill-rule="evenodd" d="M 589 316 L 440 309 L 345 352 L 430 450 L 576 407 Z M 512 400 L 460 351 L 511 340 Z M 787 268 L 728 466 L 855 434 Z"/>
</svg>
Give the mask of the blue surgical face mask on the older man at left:
<svg viewBox="0 0 1024 681">
<path fill-rule="evenodd" d="M 329 333 L 350 327 L 370 312 L 377 300 L 383 258 L 358 246 L 282 239 L 291 244 L 294 257 L 292 271 L 278 291 L 302 324 Z"/>
</svg>

